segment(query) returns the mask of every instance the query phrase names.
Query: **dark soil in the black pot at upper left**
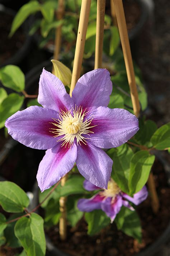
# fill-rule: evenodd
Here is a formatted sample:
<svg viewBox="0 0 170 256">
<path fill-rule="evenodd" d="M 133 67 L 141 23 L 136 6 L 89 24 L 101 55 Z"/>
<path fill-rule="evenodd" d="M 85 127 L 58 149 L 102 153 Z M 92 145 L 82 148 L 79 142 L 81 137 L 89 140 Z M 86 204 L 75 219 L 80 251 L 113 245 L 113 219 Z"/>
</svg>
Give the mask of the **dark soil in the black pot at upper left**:
<svg viewBox="0 0 170 256">
<path fill-rule="evenodd" d="M 22 28 L 19 28 L 13 37 L 9 38 L 13 18 L 13 15 L 0 11 L 0 65 L 11 58 L 25 41 Z"/>
</svg>

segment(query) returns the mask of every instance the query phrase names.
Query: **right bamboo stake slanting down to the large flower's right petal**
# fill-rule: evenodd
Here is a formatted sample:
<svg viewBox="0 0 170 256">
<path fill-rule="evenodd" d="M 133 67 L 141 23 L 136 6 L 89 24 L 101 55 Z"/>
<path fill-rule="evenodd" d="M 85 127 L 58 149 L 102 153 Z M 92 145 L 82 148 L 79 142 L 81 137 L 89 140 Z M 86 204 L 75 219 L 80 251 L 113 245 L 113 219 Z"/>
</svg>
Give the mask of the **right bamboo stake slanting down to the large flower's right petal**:
<svg viewBox="0 0 170 256">
<path fill-rule="evenodd" d="M 124 56 L 124 62 L 125 62 L 125 66 L 126 66 L 128 83 L 129 83 L 129 88 L 130 88 L 130 92 L 131 92 L 133 111 L 134 111 L 134 114 L 137 117 L 139 117 L 140 103 L 139 103 L 139 99 L 138 99 L 138 92 L 137 92 L 137 87 L 136 87 L 136 82 L 135 82 L 132 55 L 131 55 L 131 49 L 130 49 L 130 45 L 129 45 L 123 3 L 122 3 L 122 0 L 113 0 L 113 1 L 114 1 L 115 13 L 116 13 L 116 17 L 117 17 L 119 34 L 121 37 L 121 44 L 122 44 L 122 49 L 123 49 L 123 56 Z"/>
</svg>

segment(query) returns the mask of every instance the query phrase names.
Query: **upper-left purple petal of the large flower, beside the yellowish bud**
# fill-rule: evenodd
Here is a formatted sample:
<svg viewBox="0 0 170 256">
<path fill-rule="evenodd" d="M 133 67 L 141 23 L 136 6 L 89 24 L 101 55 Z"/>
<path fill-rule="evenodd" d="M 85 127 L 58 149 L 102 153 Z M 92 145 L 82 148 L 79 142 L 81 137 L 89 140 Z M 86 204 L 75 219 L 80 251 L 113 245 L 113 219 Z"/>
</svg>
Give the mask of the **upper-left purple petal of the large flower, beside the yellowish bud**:
<svg viewBox="0 0 170 256">
<path fill-rule="evenodd" d="M 39 80 L 38 102 L 45 108 L 56 111 L 69 110 L 74 107 L 73 101 L 60 79 L 43 69 Z"/>
</svg>

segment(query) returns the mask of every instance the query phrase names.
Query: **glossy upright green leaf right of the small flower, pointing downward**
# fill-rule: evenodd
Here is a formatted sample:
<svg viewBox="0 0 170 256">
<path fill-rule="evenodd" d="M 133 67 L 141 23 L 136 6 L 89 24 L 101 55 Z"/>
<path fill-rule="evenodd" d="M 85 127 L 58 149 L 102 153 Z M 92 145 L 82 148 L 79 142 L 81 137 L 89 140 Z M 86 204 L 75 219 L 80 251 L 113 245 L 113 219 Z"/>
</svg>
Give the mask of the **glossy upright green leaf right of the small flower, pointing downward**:
<svg viewBox="0 0 170 256">
<path fill-rule="evenodd" d="M 140 191 L 146 184 L 154 161 L 155 156 L 145 150 L 138 151 L 132 156 L 129 174 L 130 195 Z"/>
</svg>

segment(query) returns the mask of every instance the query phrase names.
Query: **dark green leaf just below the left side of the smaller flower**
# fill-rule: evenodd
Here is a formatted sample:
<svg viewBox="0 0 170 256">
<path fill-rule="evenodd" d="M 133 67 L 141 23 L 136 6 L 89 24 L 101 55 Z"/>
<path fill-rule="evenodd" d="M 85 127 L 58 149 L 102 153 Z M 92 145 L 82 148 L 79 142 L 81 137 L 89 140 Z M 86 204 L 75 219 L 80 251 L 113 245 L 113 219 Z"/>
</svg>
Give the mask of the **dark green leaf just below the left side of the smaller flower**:
<svg viewBox="0 0 170 256">
<path fill-rule="evenodd" d="M 85 219 L 88 223 L 88 235 L 95 235 L 110 223 L 110 218 L 101 210 L 86 212 Z"/>
</svg>

